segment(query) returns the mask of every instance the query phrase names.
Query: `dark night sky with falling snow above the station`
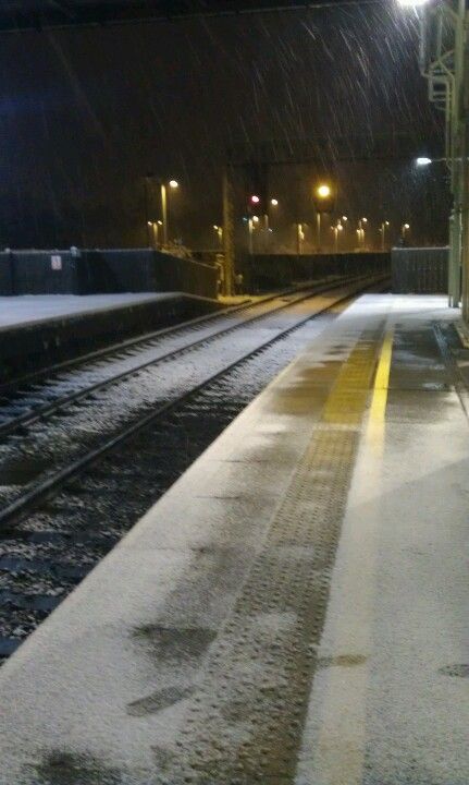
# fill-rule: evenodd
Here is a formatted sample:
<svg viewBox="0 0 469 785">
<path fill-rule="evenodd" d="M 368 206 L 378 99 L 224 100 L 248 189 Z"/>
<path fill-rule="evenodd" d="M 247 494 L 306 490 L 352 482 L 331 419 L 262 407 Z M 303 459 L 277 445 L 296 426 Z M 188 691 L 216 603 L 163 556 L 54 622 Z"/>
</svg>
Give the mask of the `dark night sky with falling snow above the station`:
<svg viewBox="0 0 469 785">
<path fill-rule="evenodd" d="M 0 244 L 141 244 L 143 176 L 155 171 L 181 181 L 173 233 L 208 245 L 225 149 L 244 141 L 411 131 L 423 150 L 441 119 L 417 51 L 416 15 L 394 0 L 4 34 Z M 409 220 L 416 241 L 444 239 L 444 169 L 377 161 L 342 165 L 334 177 L 340 212 Z M 272 171 L 285 232 L 295 212 L 306 220 L 313 178 L 311 167 Z"/>
</svg>

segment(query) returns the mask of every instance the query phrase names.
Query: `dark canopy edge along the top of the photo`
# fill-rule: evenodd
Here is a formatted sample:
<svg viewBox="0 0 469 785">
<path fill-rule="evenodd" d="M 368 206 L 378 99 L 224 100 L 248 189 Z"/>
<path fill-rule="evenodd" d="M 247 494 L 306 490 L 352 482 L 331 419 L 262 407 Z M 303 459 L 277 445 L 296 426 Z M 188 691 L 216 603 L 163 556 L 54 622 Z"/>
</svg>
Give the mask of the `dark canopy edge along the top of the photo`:
<svg viewBox="0 0 469 785">
<path fill-rule="evenodd" d="M 1 0 L 0 32 L 259 13 L 383 0 Z"/>
</svg>

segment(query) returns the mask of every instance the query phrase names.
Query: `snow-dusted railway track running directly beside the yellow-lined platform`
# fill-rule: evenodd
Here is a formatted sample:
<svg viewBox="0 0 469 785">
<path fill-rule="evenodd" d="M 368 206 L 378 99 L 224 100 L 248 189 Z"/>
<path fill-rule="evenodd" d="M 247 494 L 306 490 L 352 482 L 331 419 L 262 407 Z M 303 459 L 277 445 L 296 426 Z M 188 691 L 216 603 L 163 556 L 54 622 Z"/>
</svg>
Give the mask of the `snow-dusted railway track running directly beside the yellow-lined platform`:
<svg viewBox="0 0 469 785">
<path fill-rule="evenodd" d="M 359 287 L 365 283 L 336 291 L 313 313 L 299 313 L 304 298 L 291 302 L 294 313 L 286 326 L 270 325 L 257 346 L 26 485 L 3 507 L 0 659 L 40 624 L 299 346 L 324 328 L 331 309 L 344 307 Z"/>
</svg>

